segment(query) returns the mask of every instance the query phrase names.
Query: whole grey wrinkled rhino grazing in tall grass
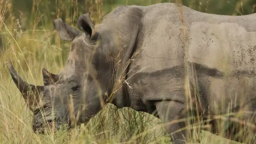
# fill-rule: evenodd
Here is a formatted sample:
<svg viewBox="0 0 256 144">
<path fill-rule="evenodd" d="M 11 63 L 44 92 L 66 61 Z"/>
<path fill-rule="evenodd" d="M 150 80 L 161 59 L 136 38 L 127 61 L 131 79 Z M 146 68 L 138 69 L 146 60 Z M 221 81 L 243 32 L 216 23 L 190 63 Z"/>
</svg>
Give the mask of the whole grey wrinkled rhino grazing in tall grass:
<svg viewBox="0 0 256 144">
<path fill-rule="evenodd" d="M 255 132 L 256 14 L 222 16 L 182 6 L 181 26 L 180 10 L 171 3 L 118 6 L 96 26 L 88 13 L 80 16 L 79 31 L 61 19 L 55 20 L 60 38 L 72 41 L 67 64 L 59 74 L 43 69 L 44 86 L 29 85 L 9 61 L 10 74 L 34 111 L 34 131 L 39 131 L 43 122 L 52 124 L 53 120 L 57 128 L 60 123 L 72 127 L 70 100 L 78 118 L 76 124 L 86 123 L 101 110 L 102 98 L 104 103 L 111 102 L 118 108 L 156 111 L 155 116 L 163 122 L 184 118 L 188 104 L 203 119 L 228 110 L 248 110 L 252 113 L 242 112 L 240 118 L 251 120 L 249 130 Z M 133 60 L 126 67 L 130 58 Z M 114 84 L 118 82 L 122 87 L 116 91 Z M 194 83 L 198 88 L 196 96 Z M 32 90 L 27 90 L 29 87 Z M 191 94 L 186 98 L 189 90 Z M 113 92 L 113 101 L 108 101 Z M 33 103 L 40 99 L 41 104 Z M 42 108 L 46 120 L 39 112 Z M 50 116 L 51 108 L 54 116 Z M 211 124 L 209 131 L 217 133 L 216 121 Z M 175 144 L 188 140 L 186 136 L 191 131 L 173 133 L 185 125 L 166 125 Z M 241 141 L 234 134 L 226 131 L 226 138 Z"/>
</svg>

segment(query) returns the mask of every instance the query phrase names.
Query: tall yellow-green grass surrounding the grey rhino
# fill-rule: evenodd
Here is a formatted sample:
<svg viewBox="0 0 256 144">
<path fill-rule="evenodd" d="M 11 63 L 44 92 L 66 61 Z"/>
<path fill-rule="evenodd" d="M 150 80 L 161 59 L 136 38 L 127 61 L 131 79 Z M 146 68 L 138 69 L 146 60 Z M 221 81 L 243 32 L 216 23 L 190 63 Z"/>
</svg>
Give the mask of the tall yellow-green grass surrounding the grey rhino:
<svg viewBox="0 0 256 144">
<path fill-rule="evenodd" d="M 70 42 L 60 40 L 53 19 L 76 27 L 80 14 L 90 12 L 95 23 L 122 4 L 184 4 L 201 12 L 244 15 L 256 11 L 255 0 L 0 0 L 0 143 L 170 143 L 161 121 L 130 108 L 108 104 L 86 125 L 70 131 L 39 135 L 31 129 L 32 116 L 10 79 L 7 58 L 31 84 L 43 84 L 42 68 L 58 73 L 66 63 Z M 195 133 L 194 137 L 197 134 Z M 203 144 L 230 142 L 203 132 Z M 235 142 L 233 142 L 235 143 Z"/>
</svg>

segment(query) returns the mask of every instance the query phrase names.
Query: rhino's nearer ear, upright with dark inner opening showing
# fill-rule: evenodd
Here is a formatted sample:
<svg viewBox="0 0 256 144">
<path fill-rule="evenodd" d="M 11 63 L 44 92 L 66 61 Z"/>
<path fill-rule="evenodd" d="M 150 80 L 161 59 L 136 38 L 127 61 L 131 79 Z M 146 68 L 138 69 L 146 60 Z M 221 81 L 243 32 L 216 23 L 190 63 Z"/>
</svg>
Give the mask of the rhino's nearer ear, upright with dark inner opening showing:
<svg viewBox="0 0 256 144">
<path fill-rule="evenodd" d="M 89 12 L 79 16 L 77 20 L 77 27 L 79 30 L 83 31 L 90 39 L 94 38 L 95 29 Z"/>
</svg>

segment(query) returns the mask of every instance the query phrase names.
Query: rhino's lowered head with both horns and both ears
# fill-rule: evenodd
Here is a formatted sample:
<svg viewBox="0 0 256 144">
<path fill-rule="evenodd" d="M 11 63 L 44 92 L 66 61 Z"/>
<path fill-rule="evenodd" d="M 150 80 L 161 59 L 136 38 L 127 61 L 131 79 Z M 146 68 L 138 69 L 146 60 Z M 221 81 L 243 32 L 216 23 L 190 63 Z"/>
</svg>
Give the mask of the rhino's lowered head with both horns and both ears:
<svg viewBox="0 0 256 144">
<path fill-rule="evenodd" d="M 46 126 L 58 130 L 61 124 L 72 128 L 72 120 L 86 123 L 106 103 L 105 93 L 111 92 L 112 65 L 103 50 L 109 44 L 101 36 L 104 30 L 95 30 L 89 13 L 78 18 L 79 30 L 61 19 L 54 20 L 54 26 L 62 40 L 72 43 L 62 71 L 52 74 L 43 68 L 44 85 L 22 80 L 8 60 L 12 79 L 34 113 L 34 132 L 44 132 Z"/>
</svg>

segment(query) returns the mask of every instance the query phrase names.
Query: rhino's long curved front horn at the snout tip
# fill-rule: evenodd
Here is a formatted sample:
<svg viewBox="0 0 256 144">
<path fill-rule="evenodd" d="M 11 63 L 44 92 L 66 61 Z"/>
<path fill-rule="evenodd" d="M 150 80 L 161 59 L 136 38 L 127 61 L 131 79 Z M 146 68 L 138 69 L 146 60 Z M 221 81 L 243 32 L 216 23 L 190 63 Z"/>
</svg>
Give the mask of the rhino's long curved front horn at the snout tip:
<svg viewBox="0 0 256 144">
<path fill-rule="evenodd" d="M 28 84 L 18 75 L 16 70 L 14 69 L 10 58 L 8 58 L 8 69 L 12 76 L 14 83 L 16 84 L 17 88 L 22 93 L 22 96 L 30 108 L 30 110 L 34 110 L 38 107 L 40 102 L 40 93 L 43 92 L 43 86 L 34 86 L 32 84 Z"/>
</svg>

